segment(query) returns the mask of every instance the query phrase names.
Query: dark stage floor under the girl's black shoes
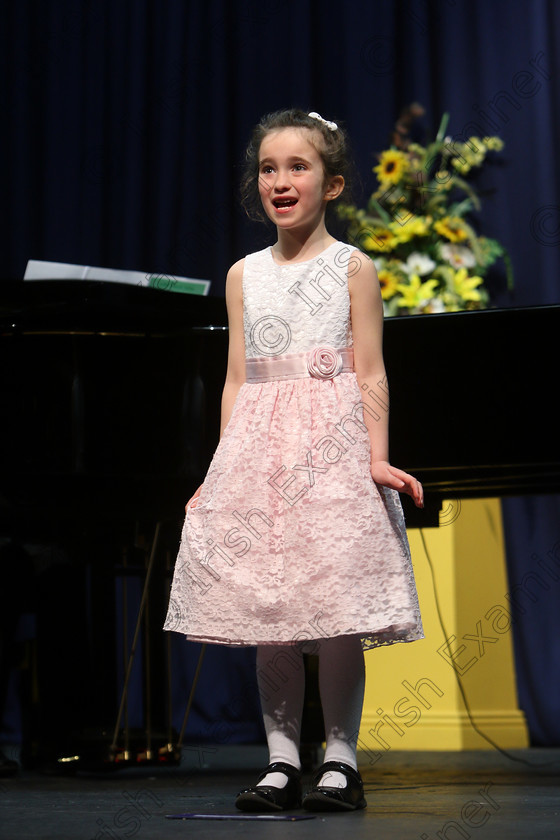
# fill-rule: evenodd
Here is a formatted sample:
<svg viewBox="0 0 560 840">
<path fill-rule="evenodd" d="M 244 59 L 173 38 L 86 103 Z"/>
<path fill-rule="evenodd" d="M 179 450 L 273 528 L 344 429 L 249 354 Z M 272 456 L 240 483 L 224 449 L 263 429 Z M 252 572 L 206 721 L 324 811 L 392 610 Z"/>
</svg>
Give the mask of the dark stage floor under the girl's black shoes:
<svg viewBox="0 0 560 840">
<path fill-rule="evenodd" d="M 560 749 L 397 752 L 360 763 L 368 808 L 297 822 L 171 820 L 230 814 L 236 793 L 267 761 L 261 746 L 185 747 L 180 768 L 0 779 L 2 840 L 311 838 L 557 840 Z M 515 759 L 515 760 L 514 760 Z M 305 814 L 304 811 L 293 812 Z"/>
</svg>

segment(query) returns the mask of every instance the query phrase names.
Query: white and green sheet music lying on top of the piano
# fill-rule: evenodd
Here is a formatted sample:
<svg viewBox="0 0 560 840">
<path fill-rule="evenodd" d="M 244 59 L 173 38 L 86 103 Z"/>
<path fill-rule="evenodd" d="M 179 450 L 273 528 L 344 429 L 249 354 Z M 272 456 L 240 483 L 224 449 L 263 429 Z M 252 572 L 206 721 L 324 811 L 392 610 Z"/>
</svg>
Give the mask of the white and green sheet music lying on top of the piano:
<svg viewBox="0 0 560 840">
<path fill-rule="evenodd" d="M 179 292 L 190 295 L 208 295 L 209 280 L 193 277 L 175 277 L 169 274 L 152 274 L 143 271 L 125 271 L 116 268 L 100 268 L 92 265 L 28 260 L 24 280 L 99 280 L 108 283 L 127 283 L 145 286 L 164 292 Z"/>
</svg>

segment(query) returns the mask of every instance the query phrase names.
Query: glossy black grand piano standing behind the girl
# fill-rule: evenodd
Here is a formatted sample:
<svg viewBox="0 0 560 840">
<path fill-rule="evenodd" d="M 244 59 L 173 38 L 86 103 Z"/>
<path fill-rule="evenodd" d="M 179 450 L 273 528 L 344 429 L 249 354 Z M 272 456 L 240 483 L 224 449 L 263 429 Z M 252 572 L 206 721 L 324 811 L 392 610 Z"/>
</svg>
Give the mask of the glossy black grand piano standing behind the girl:
<svg viewBox="0 0 560 840">
<path fill-rule="evenodd" d="M 444 499 L 560 491 L 559 328 L 560 306 L 385 322 L 391 460 L 425 488 L 423 511 L 403 498 L 410 526 L 437 525 Z M 138 555 L 157 523 L 166 560 L 151 621 L 162 635 L 184 504 L 218 439 L 226 351 L 221 298 L 96 281 L 2 284 L 0 537 L 62 547 L 67 568 L 78 566 L 53 604 L 64 613 L 58 632 L 88 638 L 72 679 L 59 674 L 69 695 L 87 681 L 85 717 L 114 715 L 107 685 L 117 668 L 105 651 L 117 633 L 115 577 L 145 572 Z M 160 660 L 152 656 L 156 683 Z M 58 706 L 46 706 L 52 723 Z"/>
</svg>

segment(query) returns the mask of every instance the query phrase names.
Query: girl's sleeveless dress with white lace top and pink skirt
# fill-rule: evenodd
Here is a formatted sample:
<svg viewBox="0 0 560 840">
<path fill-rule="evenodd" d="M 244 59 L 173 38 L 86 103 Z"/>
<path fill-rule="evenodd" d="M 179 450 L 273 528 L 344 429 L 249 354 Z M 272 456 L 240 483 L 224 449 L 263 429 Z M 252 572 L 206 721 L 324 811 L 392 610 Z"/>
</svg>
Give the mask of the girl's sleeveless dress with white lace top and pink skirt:
<svg viewBox="0 0 560 840">
<path fill-rule="evenodd" d="M 353 372 L 356 259 L 341 242 L 290 265 L 270 248 L 246 257 L 247 382 L 185 518 L 166 630 L 226 645 L 423 638 L 399 495 L 370 474 L 362 412 L 387 402 Z"/>
</svg>

